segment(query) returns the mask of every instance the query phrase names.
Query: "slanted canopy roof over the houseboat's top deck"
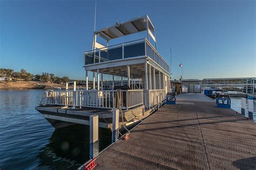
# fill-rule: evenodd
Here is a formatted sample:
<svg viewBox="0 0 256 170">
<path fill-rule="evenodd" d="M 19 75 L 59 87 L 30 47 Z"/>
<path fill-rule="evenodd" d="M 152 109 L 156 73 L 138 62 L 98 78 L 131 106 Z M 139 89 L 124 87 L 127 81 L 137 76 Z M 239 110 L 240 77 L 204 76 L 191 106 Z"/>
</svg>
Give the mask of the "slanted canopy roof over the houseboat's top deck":
<svg viewBox="0 0 256 170">
<path fill-rule="evenodd" d="M 107 41 L 118 38 L 132 33 L 142 32 L 147 30 L 147 21 L 149 23 L 149 29 L 154 31 L 154 26 L 151 23 L 149 17 L 143 16 L 131 19 L 124 23 L 118 23 L 116 25 L 106 27 L 104 29 L 96 31 L 96 34 L 106 39 Z"/>
</svg>

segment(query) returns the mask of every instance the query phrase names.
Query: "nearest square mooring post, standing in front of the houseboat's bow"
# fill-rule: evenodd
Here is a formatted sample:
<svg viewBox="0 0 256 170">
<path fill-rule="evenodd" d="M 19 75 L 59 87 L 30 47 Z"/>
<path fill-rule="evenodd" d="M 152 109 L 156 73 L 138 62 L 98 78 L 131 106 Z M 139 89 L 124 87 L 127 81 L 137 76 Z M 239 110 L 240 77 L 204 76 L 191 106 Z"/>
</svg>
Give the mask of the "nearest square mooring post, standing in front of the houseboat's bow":
<svg viewBox="0 0 256 170">
<path fill-rule="evenodd" d="M 90 116 L 90 158 L 94 159 L 99 154 L 99 116 Z"/>
</svg>

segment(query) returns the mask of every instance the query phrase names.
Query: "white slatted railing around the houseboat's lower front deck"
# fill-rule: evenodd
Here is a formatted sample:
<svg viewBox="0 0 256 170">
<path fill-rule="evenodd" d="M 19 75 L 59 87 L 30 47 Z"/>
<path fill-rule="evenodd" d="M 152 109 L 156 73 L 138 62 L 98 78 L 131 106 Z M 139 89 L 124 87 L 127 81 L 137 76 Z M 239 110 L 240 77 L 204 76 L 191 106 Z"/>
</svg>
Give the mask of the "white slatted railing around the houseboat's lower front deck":
<svg viewBox="0 0 256 170">
<path fill-rule="evenodd" d="M 46 105 L 100 108 L 119 108 L 120 105 L 127 110 L 143 105 L 143 90 L 50 90 L 45 94 Z"/>
</svg>

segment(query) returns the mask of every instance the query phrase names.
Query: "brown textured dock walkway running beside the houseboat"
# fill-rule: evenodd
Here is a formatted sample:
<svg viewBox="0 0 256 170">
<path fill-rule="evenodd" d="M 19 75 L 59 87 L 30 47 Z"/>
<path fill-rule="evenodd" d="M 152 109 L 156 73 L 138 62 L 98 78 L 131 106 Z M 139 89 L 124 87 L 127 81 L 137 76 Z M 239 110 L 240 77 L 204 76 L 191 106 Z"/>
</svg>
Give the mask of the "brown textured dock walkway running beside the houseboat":
<svg viewBox="0 0 256 170">
<path fill-rule="evenodd" d="M 256 169 L 256 123 L 181 94 L 98 155 L 96 169 Z"/>
</svg>

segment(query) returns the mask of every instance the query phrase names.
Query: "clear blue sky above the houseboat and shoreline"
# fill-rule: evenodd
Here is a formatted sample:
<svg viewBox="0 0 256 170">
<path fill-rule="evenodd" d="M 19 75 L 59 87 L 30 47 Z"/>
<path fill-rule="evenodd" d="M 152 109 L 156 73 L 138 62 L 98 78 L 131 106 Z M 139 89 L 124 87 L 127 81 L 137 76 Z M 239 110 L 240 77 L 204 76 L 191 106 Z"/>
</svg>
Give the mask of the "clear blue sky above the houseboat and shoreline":
<svg viewBox="0 0 256 170">
<path fill-rule="evenodd" d="M 185 79 L 256 77 L 255 11 L 254 0 L 97 0 L 96 30 L 149 15 L 172 79 L 180 63 Z M 0 68 L 85 79 L 94 15 L 91 0 L 0 0 Z"/>
</svg>

